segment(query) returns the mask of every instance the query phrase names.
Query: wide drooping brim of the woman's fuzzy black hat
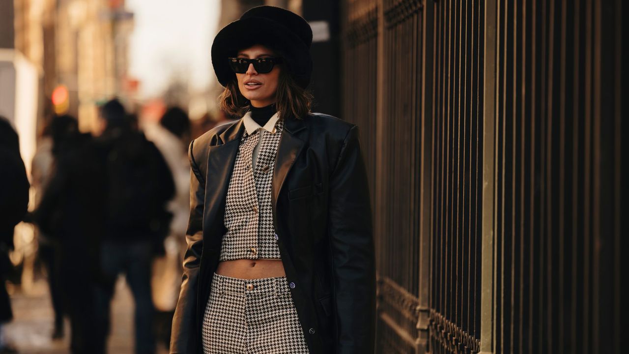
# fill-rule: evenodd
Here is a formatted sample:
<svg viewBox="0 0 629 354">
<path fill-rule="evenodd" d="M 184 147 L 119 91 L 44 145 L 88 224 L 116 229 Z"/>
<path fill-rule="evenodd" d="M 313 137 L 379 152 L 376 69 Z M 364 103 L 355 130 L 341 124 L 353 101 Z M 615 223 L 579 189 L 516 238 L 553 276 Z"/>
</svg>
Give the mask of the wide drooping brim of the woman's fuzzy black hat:
<svg viewBox="0 0 629 354">
<path fill-rule="evenodd" d="M 312 72 L 312 58 L 308 47 L 289 28 L 267 18 L 252 17 L 233 21 L 223 27 L 212 43 L 212 66 L 218 82 L 225 87 L 236 75 L 228 57 L 238 50 L 261 44 L 284 58 L 292 76 L 303 88 L 308 86 Z"/>
</svg>

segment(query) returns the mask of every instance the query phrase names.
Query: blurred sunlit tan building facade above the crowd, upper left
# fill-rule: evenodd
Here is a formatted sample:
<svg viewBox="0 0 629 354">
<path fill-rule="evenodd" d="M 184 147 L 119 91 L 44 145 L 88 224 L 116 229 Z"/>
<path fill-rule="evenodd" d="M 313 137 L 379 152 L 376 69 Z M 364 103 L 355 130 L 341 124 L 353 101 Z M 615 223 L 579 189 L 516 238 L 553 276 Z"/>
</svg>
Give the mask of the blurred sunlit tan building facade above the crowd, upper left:
<svg viewBox="0 0 629 354">
<path fill-rule="evenodd" d="M 126 72 L 133 14 L 126 11 L 125 1 L 10 2 L 13 11 L 1 16 L 14 28 L 10 50 L 37 71 L 37 92 L 30 104 L 36 106 L 38 125 L 55 111 L 78 117 L 84 131 L 96 130 L 97 103 L 133 93 Z M 6 0 L 3 6 L 11 7 Z M 3 43 L 9 40 L 3 38 Z M 61 94 L 48 106 L 55 89 Z"/>
</svg>

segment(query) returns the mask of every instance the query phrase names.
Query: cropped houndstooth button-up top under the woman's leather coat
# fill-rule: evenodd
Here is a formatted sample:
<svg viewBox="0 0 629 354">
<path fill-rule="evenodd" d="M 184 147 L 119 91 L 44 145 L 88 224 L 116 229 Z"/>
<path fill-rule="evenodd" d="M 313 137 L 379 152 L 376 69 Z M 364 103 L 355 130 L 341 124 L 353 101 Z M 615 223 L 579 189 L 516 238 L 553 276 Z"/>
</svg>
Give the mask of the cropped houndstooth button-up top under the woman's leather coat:
<svg viewBox="0 0 629 354">
<path fill-rule="evenodd" d="M 227 232 L 221 244 L 220 261 L 281 259 L 273 226 L 271 181 L 283 130 L 284 122 L 278 120 L 274 133 L 265 132 L 253 171 L 252 155 L 260 139 L 260 128 L 251 135 L 243 133 L 227 190 L 224 219 Z"/>
</svg>

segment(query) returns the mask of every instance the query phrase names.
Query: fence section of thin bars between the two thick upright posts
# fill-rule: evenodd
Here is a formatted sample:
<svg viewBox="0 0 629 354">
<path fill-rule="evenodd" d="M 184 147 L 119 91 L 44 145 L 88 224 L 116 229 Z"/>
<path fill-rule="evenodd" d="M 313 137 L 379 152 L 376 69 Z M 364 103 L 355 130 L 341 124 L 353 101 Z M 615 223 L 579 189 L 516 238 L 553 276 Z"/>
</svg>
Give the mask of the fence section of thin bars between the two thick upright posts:
<svg viewBox="0 0 629 354">
<path fill-rule="evenodd" d="M 430 350 L 477 353 L 481 338 L 484 1 L 426 16 L 432 91 Z"/>
</svg>

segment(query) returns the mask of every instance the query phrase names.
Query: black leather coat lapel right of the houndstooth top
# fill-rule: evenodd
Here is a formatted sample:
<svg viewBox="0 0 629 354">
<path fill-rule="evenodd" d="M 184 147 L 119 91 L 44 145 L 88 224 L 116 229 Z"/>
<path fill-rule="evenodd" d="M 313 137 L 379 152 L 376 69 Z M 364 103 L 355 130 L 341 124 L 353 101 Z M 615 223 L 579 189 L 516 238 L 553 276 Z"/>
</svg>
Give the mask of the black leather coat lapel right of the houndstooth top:
<svg viewBox="0 0 629 354">
<path fill-rule="evenodd" d="M 277 197 L 282 190 L 282 186 L 284 186 L 284 180 L 286 180 L 287 174 L 291 171 L 292 165 L 304 147 L 304 134 L 307 134 L 307 128 L 303 120 L 291 117 L 284 121 L 284 133 L 282 133 L 282 137 L 279 140 L 276 164 L 273 169 L 271 194 L 273 210 L 276 210 Z"/>
</svg>

